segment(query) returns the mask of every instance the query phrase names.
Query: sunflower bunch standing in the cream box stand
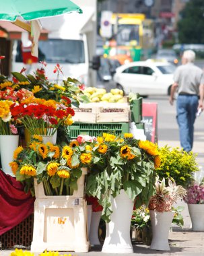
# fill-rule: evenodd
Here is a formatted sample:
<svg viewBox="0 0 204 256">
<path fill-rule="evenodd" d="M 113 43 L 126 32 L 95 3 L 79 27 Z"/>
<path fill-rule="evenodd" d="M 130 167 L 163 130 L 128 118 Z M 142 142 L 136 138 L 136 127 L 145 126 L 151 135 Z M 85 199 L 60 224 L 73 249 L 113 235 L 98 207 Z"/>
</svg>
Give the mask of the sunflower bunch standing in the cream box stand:
<svg viewBox="0 0 204 256">
<path fill-rule="evenodd" d="M 81 167 L 92 163 L 92 154 L 86 143 L 79 146 L 77 140 L 69 145 L 54 146 L 43 143 L 40 135 L 33 135 L 28 148 L 19 146 L 13 152 L 11 170 L 18 181 L 25 182 L 25 191 L 34 195 L 33 178 L 43 183 L 46 195 L 73 195 Z"/>
</svg>

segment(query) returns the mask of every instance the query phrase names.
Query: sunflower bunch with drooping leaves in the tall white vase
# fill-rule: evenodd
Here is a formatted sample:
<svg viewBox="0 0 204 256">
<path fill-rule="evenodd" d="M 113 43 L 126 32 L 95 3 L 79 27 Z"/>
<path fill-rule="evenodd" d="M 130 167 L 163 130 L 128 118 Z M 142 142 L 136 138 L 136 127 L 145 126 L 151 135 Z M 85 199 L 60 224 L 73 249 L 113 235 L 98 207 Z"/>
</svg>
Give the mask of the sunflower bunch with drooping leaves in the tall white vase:
<svg viewBox="0 0 204 256">
<path fill-rule="evenodd" d="M 148 203 L 154 194 L 155 168 L 160 165 L 157 146 L 150 141 L 137 141 L 131 133 L 116 137 L 103 133 L 92 143 L 94 160 L 88 174 L 86 193 L 97 197 L 103 207 L 102 218 L 110 221 L 110 197 L 121 189 L 136 207 Z"/>
</svg>

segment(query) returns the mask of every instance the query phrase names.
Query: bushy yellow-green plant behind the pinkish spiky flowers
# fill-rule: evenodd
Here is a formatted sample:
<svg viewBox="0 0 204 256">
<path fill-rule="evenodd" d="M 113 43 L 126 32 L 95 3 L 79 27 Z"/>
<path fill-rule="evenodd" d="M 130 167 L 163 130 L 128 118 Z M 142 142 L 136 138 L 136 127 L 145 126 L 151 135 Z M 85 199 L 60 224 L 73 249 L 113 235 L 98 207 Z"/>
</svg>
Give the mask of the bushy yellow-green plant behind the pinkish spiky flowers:
<svg viewBox="0 0 204 256">
<path fill-rule="evenodd" d="M 193 181 L 193 172 L 199 170 L 195 160 L 196 154 L 185 152 L 180 148 L 170 148 L 164 146 L 158 148 L 160 152 L 161 164 L 156 170 L 160 180 L 163 178 L 168 184 L 168 178 L 176 182 L 176 185 L 187 187 Z"/>
</svg>

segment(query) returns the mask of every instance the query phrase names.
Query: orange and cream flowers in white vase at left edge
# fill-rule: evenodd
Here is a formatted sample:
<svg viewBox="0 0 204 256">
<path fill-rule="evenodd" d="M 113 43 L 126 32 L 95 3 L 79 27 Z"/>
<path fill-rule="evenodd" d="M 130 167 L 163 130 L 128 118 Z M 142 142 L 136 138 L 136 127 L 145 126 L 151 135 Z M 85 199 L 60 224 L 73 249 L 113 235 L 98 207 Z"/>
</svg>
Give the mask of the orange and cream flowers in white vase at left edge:
<svg viewBox="0 0 204 256">
<path fill-rule="evenodd" d="M 11 119 L 11 100 L 0 100 L 0 134 L 12 135 L 17 134 L 18 129 L 15 127 L 14 121 Z"/>
</svg>

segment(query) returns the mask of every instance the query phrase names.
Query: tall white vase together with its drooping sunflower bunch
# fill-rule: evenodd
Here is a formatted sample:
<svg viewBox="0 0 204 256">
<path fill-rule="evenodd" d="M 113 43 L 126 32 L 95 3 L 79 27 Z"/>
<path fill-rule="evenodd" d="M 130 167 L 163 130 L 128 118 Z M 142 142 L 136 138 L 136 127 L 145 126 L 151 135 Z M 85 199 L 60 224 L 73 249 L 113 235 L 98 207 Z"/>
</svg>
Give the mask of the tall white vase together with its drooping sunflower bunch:
<svg viewBox="0 0 204 256">
<path fill-rule="evenodd" d="M 157 146 L 137 141 L 131 133 L 118 137 L 103 133 L 92 147 L 94 160 L 86 193 L 98 198 L 102 218 L 108 222 L 102 251 L 132 253 L 129 228 L 133 203 L 136 200 L 136 207 L 148 203 L 154 193 L 154 170 L 160 163 Z"/>
</svg>

